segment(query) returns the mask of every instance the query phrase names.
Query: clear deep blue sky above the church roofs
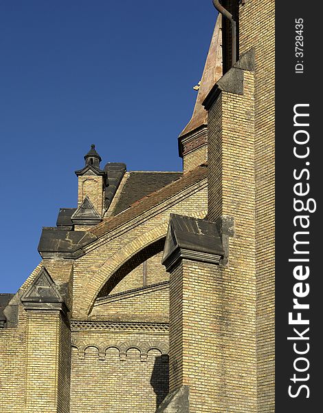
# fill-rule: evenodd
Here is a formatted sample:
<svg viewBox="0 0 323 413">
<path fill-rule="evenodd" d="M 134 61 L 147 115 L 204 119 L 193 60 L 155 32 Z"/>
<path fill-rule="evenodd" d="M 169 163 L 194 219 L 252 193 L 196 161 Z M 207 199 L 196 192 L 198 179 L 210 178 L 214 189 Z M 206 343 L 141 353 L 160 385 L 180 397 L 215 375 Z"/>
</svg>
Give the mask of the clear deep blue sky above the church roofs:
<svg viewBox="0 0 323 413">
<path fill-rule="evenodd" d="M 40 262 L 41 227 L 76 207 L 91 143 L 102 165 L 181 169 L 215 19 L 211 0 L 1 1 L 1 293 Z"/>
</svg>

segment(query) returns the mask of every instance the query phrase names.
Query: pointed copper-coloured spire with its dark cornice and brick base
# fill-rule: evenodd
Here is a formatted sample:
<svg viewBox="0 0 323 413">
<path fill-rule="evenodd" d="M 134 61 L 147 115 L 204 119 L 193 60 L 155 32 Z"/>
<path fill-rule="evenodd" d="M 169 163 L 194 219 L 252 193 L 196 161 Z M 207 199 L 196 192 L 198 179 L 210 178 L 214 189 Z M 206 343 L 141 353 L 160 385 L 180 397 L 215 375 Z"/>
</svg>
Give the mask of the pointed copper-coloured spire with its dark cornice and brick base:
<svg viewBox="0 0 323 413">
<path fill-rule="evenodd" d="M 216 19 L 208 56 L 205 61 L 192 118 L 179 135 L 179 156 L 183 158 L 184 172 L 207 161 L 208 112 L 202 102 L 222 76 L 221 14 Z"/>
</svg>

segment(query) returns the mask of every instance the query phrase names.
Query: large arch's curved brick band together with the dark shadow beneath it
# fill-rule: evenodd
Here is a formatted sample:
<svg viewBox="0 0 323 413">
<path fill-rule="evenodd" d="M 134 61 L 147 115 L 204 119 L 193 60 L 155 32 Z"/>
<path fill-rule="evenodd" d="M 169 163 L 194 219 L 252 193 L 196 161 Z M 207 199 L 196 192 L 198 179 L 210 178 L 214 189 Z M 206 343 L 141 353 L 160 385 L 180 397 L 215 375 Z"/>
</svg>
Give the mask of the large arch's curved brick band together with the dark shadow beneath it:
<svg viewBox="0 0 323 413">
<path fill-rule="evenodd" d="M 109 258 L 98 272 L 92 277 L 91 283 L 87 286 L 87 297 L 91 300 L 89 306 L 87 307 L 87 315 L 91 313 L 96 299 L 100 296 L 107 295 L 106 292 L 111 287 L 113 280 L 116 282 L 118 279 L 125 277 L 126 266 L 135 266 L 141 264 L 148 259 L 148 255 L 151 254 L 151 257 L 158 252 L 162 251 L 164 247 L 166 232 L 168 228 L 168 222 L 164 222 L 157 226 L 156 228 L 144 233 L 140 237 L 137 237 L 135 240 L 126 244 L 122 247 L 118 253 L 115 253 L 112 257 Z M 161 248 L 161 249 L 160 249 Z M 111 284 L 109 284 L 109 280 Z M 105 288 L 102 291 L 102 288 Z M 85 298 L 85 297 L 83 297 Z"/>
</svg>

